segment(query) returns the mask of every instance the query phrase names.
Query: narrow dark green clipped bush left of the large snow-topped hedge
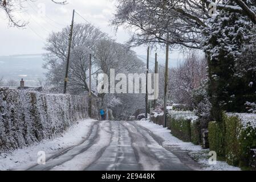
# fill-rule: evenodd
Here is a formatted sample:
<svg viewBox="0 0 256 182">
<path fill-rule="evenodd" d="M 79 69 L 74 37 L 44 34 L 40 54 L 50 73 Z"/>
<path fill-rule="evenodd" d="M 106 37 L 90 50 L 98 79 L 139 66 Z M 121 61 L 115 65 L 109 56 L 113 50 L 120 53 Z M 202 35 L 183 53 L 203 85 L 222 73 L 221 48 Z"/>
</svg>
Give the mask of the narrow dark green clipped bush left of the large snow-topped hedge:
<svg viewBox="0 0 256 182">
<path fill-rule="evenodd" d="M 209 122 L 210 151 L 216 151 L 218 158 L 225 157 L 224 131 L 221 123 Z"/>
</svg>

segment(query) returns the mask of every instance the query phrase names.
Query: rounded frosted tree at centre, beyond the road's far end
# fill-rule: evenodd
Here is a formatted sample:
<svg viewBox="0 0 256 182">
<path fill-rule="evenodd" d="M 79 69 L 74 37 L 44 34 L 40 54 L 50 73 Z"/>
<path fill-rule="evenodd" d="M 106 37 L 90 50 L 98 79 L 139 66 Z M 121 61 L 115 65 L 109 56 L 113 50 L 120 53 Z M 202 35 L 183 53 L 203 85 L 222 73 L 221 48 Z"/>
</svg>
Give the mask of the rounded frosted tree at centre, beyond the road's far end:
<svg viewBox="0 0 256 182">
<path fill-rule="evenodd" d="M 123 73 L 127 77 L 129 73 L 145 72 L 145 64 L 137 58 L 134 51 L 111 39 L 100 40 L 96 44 L 94 56 L 96 68 L 99 69 L 99 72 L 107 74 L 109 78 L 110 69 L 115 69 L 115 75 Z M 145 100 L 143 95 L 145 96 L 145 94 L 103 93 L 100 94 L 100 97 L 103 99 L 105 106 L 113 109 L 115 118 L 127 119 L 138 109 L 137 107 L 141 108 L 141 104 Z"/>
</svg>

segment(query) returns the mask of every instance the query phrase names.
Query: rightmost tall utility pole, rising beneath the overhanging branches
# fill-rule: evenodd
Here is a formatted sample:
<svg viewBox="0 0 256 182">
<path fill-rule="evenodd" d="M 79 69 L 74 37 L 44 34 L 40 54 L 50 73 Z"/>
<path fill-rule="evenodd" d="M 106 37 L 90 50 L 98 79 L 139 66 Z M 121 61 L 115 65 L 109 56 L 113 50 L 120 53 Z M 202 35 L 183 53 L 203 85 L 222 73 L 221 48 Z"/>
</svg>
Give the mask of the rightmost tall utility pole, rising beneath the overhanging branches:
<svg viewBox="0 0 256 182">
<path fill-rule="evenodd" d="M 164 127 L 166 127 L 167 121 L 167 110 L 166 110 L 166 99 L 167 99 L 167 88 L 168 88 L 168 64 L 169 64 L 169 33 L 166 38 L 166 57 L 165 57 L 165 80 L 164 80 Z"/>
</svg>

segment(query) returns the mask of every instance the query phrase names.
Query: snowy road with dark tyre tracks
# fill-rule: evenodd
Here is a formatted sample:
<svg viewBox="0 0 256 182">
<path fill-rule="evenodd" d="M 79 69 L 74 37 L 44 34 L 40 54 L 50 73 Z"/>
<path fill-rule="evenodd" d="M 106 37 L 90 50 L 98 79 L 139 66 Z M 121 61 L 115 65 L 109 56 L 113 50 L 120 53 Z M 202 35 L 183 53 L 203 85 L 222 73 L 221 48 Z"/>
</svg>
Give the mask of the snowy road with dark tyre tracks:
<svg viewBox="0 0 256 182">
<path fill-rule="evenodd" d="M 192 170 L 136 122 L 96 121 L 84 140 L 27 170 Z"/>
</svg>

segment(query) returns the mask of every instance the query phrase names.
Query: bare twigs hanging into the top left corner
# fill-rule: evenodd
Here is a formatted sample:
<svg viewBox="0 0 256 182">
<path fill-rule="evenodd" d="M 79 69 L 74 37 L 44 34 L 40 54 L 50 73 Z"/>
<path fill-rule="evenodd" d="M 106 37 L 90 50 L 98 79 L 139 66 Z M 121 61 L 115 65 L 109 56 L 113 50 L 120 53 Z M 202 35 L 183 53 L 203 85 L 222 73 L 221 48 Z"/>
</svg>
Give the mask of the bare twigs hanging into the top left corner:
<svg viewBox="0 0 256 182">
<path fill-rule="evenodd" d="M 7 15 L 7 19 L 9 19 L 10 25 L 14 27 L 26 26 L 27 22 L 23 22 L 22 20 L 17 19 L 17 17 L 15 16 L 15 12 L 25 10 L 26 9 L 25 3 L 27 1 L 32 2 L 32 0 L 1 0 L 0 1 L 0 10 L 5 11 Z M 51 0 L 51 1 L 59 5 L 66 5 L 67 3 L 66 0 L 63 0 L 63 1 Z"/>
</svg>

